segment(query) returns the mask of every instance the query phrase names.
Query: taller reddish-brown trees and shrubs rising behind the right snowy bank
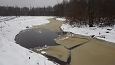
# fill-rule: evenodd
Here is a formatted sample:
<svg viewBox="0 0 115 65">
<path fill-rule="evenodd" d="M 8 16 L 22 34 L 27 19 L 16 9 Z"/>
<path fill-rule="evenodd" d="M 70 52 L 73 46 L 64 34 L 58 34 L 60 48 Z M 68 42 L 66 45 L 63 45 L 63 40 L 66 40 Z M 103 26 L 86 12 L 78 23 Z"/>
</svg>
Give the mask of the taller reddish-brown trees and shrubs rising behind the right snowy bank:
<svg viewBox="0 0 115 65">
<path fill-rule="evenodd" d="M 65 16 L 70 24 L 90 27 L 115 24 L 115 0 L 70 0 L 55 7 L 56 14 Z"/>
</svg>

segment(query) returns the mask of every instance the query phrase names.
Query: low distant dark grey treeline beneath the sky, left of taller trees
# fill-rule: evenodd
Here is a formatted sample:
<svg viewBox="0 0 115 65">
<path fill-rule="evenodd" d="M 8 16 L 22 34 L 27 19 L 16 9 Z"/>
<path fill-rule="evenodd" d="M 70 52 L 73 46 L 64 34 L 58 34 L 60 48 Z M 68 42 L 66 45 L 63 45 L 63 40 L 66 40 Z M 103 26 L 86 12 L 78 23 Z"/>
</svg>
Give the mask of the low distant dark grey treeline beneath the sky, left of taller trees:
<svg viewBox="0 0 115 65">
<path fill-rule="evenodd" d="M 43 8 L 19 8 L 0 6 L 0 16 L 49 16 L 53 15 L 52 7 Z"/>
</svg>

